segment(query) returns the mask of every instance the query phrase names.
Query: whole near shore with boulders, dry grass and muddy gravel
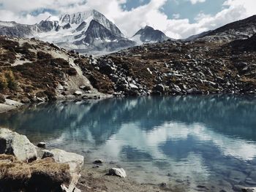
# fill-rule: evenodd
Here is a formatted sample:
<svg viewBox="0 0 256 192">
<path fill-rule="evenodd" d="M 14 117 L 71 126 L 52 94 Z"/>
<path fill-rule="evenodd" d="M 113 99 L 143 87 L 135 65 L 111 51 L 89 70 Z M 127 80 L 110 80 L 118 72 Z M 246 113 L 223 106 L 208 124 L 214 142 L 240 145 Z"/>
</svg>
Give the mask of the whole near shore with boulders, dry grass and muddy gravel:
<svg viewBox="0 0 256 192">
<path fill-rule="evenodd" d="M 44 142 L 35 146 L 26 136 L 0 128 L 0 191 L 162 191 L 165 187 L 135 183 L 124 169 L 100 171 L 95 168 L 103 164 L 101 160 L 85 166 L 82 155 L 45 147 Z"/>
</svg>

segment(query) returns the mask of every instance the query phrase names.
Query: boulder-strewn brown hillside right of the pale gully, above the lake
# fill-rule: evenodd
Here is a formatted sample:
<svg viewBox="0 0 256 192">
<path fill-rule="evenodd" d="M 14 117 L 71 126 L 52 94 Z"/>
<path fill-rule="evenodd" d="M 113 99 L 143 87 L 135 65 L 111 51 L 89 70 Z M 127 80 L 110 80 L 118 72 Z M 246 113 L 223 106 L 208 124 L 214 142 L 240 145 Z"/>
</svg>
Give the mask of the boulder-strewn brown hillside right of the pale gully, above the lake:
<svg viewBox="0 0 256 192">
<path fill-rule="evenodd" d="M 253 39 L 242 40 L 247 52 L 235 46 L 241 42 L 141 45 L 90 58 L 83 72 L 100 91 L 116 95 L 256 93 L 256 54 L 249 48 Z M 81 66 L 85 61 L 76 62 Z M 105 75 L 105 80 L 99 84 L 91 74 Z"/>
</svg>

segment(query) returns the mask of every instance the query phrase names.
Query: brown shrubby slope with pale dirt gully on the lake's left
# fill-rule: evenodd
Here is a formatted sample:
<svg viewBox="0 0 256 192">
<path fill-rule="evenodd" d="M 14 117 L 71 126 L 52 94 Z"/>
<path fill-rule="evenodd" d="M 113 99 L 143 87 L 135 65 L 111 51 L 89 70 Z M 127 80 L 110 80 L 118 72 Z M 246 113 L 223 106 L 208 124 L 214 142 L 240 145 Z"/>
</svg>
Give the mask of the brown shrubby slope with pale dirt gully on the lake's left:
<svg viewBox="0 0 256 192">
<path fill-rule="evenodd" d="M 39 40 L 0 37 L 1 98 L 29 103 L 99 96 L 74 63 L 78 58 Z"/>
</svg>

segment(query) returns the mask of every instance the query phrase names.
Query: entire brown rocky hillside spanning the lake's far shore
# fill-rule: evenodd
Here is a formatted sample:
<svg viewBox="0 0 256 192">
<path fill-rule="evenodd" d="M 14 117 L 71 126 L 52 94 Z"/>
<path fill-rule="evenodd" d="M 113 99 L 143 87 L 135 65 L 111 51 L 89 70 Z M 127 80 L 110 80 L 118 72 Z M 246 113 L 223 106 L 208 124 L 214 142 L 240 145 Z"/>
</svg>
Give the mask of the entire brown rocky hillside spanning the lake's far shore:
<svg viewBox="0 0 256 192">
<path fill-rule="evenodd" d="M 255 35 L 226 44 L 168 40 L 102 57 L 36 39 L 0 37 L 0 52 L 0 93 L 23 103 L 99 93 L 256 93 Z"/>
</svg>

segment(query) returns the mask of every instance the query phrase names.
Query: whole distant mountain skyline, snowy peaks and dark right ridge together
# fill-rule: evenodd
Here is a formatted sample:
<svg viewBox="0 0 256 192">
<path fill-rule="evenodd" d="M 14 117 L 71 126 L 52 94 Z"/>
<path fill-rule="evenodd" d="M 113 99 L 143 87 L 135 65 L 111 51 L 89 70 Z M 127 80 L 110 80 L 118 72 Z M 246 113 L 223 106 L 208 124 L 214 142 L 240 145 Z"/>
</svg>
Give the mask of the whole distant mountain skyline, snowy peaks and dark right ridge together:
<svg viewBox="0 0 256 192">
<path fill-rule="evenodd" d="M 256 15 L 181 41 L 230 42 L 252 37 L 255 32 Z M 96 10 L 64 14 L 59 20 L 49 17 L 34 25 L 0 21 L 0 35 L 34 37 L 67 50 L 100 55 L 144 43 L 176 41 L 151 26 L 140 28 L 133 37 L 125 37 L 114 23 Z"/>
</svg>

